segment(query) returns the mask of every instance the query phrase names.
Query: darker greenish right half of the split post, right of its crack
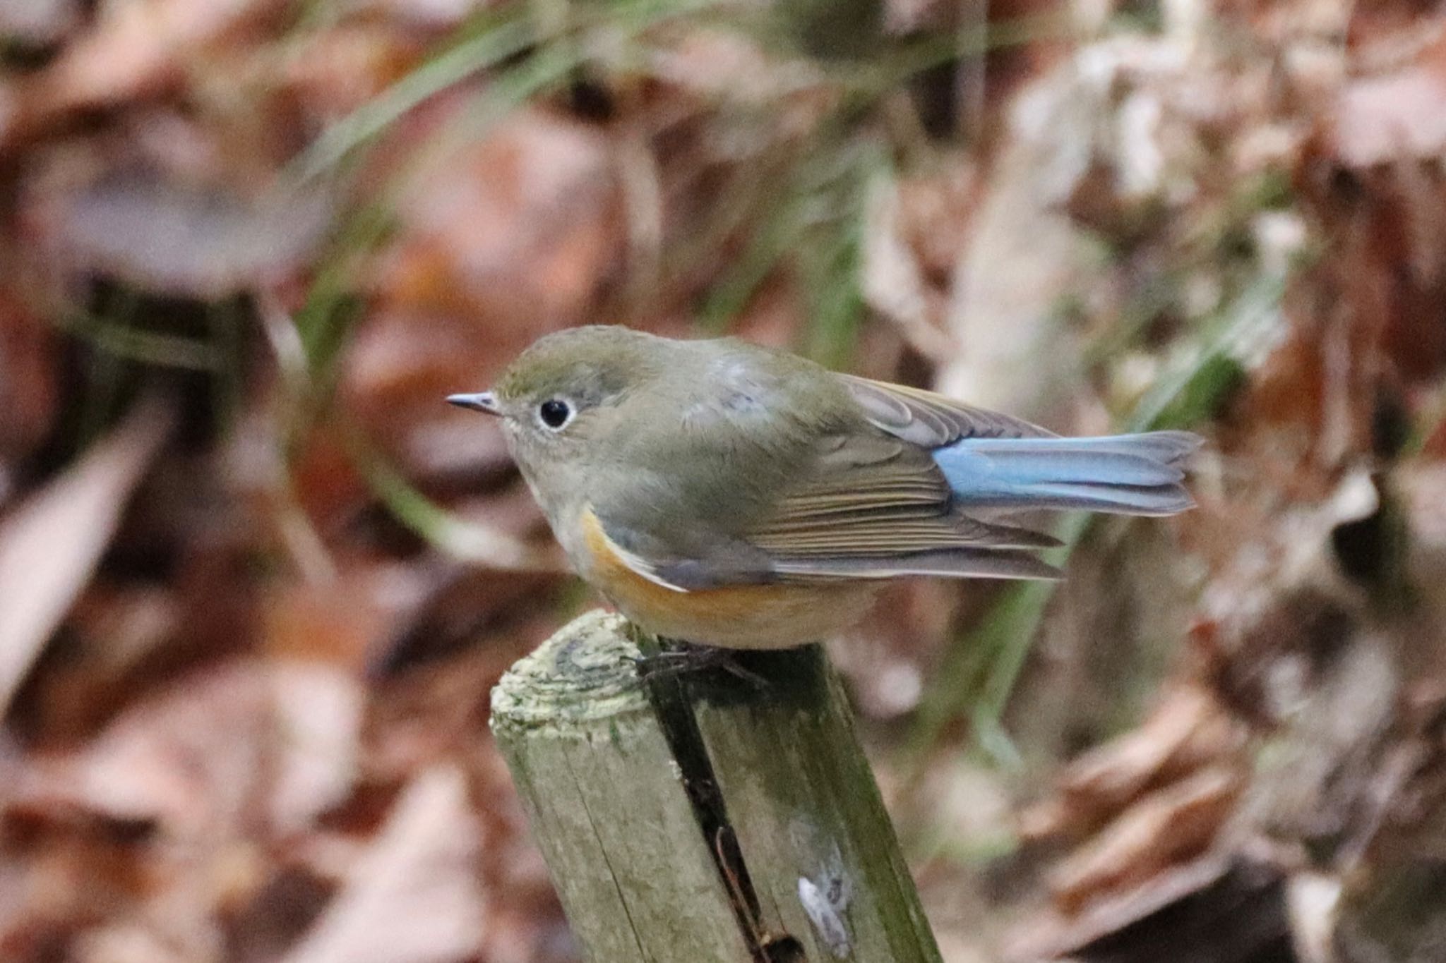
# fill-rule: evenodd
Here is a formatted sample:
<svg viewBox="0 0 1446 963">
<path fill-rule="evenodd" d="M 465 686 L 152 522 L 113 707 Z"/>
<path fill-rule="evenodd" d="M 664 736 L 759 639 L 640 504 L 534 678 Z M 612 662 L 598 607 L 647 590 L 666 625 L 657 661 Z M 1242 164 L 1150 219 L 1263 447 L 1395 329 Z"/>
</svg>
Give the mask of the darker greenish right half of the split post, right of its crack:
<svg viewBox="0 0 1446 963">
<path fill-rule="evenodd" d="M 688 680 L 719 793 L 769 928 L 794 934 L 807 959 L 938 960 L 914 881 L 873 772 L 853 731 L 847 694 L 823 647 L 740 660 L 768 680 Z M 842 891 L 831 907 L 847 953 L 800 899 L 803 881 Z"/>
</svg>

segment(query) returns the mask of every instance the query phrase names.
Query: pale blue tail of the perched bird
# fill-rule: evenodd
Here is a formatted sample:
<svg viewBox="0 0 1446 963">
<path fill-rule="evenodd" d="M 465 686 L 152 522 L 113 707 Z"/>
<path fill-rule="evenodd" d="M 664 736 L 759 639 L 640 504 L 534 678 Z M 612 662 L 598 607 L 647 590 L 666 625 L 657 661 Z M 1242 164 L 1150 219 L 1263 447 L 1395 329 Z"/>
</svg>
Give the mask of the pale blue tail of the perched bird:
<svg viewBox="0 0 1446 963">
<path fill-rule="evenodd" d="M 966 437 L 934 450 L 962 508 L 1084 508 L 1173 515 L 1194 507 L 1180 465 L 1190 432 L 1108 437 Z"/>
</svg>

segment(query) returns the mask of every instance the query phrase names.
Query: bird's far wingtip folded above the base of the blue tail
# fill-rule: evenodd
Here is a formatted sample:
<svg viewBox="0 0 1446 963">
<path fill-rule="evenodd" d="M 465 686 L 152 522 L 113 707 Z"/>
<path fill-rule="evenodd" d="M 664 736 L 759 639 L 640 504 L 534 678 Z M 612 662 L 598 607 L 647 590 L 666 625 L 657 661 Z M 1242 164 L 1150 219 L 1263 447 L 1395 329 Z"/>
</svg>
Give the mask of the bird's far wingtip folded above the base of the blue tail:
<svg viewBox="0 0 1446 963">
<path fill-rule="evenodd" d="M 976 409 L 943 394 L 902 384 L 837 375 L 865 417 L 879 430 L 921 448 L 943 448 L 963 437 L 1053 437 L 1038 424 Z"/>
</svg>

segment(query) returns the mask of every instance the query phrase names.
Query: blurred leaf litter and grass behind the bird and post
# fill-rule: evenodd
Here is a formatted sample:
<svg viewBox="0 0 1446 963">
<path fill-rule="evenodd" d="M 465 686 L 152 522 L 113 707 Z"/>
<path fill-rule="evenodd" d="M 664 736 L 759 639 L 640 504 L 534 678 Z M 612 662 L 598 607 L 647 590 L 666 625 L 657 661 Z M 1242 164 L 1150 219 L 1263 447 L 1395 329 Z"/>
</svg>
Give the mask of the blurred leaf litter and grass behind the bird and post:
<svg viewBox="0 0 1446 963">
<path fill-rule="evenodd" d="M 1432 0 L 0 0 L 0 957 L 578 959 L 442 397 L 619 322 L 1209 437 L 833 642 L 950 963 L 1446 960 L 1443 157 Z"/>
</svg>

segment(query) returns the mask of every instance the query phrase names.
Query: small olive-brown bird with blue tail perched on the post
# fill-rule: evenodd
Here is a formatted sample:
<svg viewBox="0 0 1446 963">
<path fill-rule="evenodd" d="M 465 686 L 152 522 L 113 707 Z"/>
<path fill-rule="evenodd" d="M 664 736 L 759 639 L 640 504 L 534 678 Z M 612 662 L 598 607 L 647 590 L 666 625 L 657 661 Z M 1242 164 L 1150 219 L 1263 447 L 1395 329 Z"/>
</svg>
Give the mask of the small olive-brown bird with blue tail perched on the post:
<svg viewBox="0 0 1446 963">
<path fill-rule="evenodd" d="M 665 638 L 818 641 L 884 579 L 1053 579 L 1037 508 L 1171 515 L 1194 505 L 1189 432 L 1060 437 L 941 394 L 837 374 L 736 338 L 619 326 L 549 334 L 492 391 L 573 567 Z"/>
</svg>

